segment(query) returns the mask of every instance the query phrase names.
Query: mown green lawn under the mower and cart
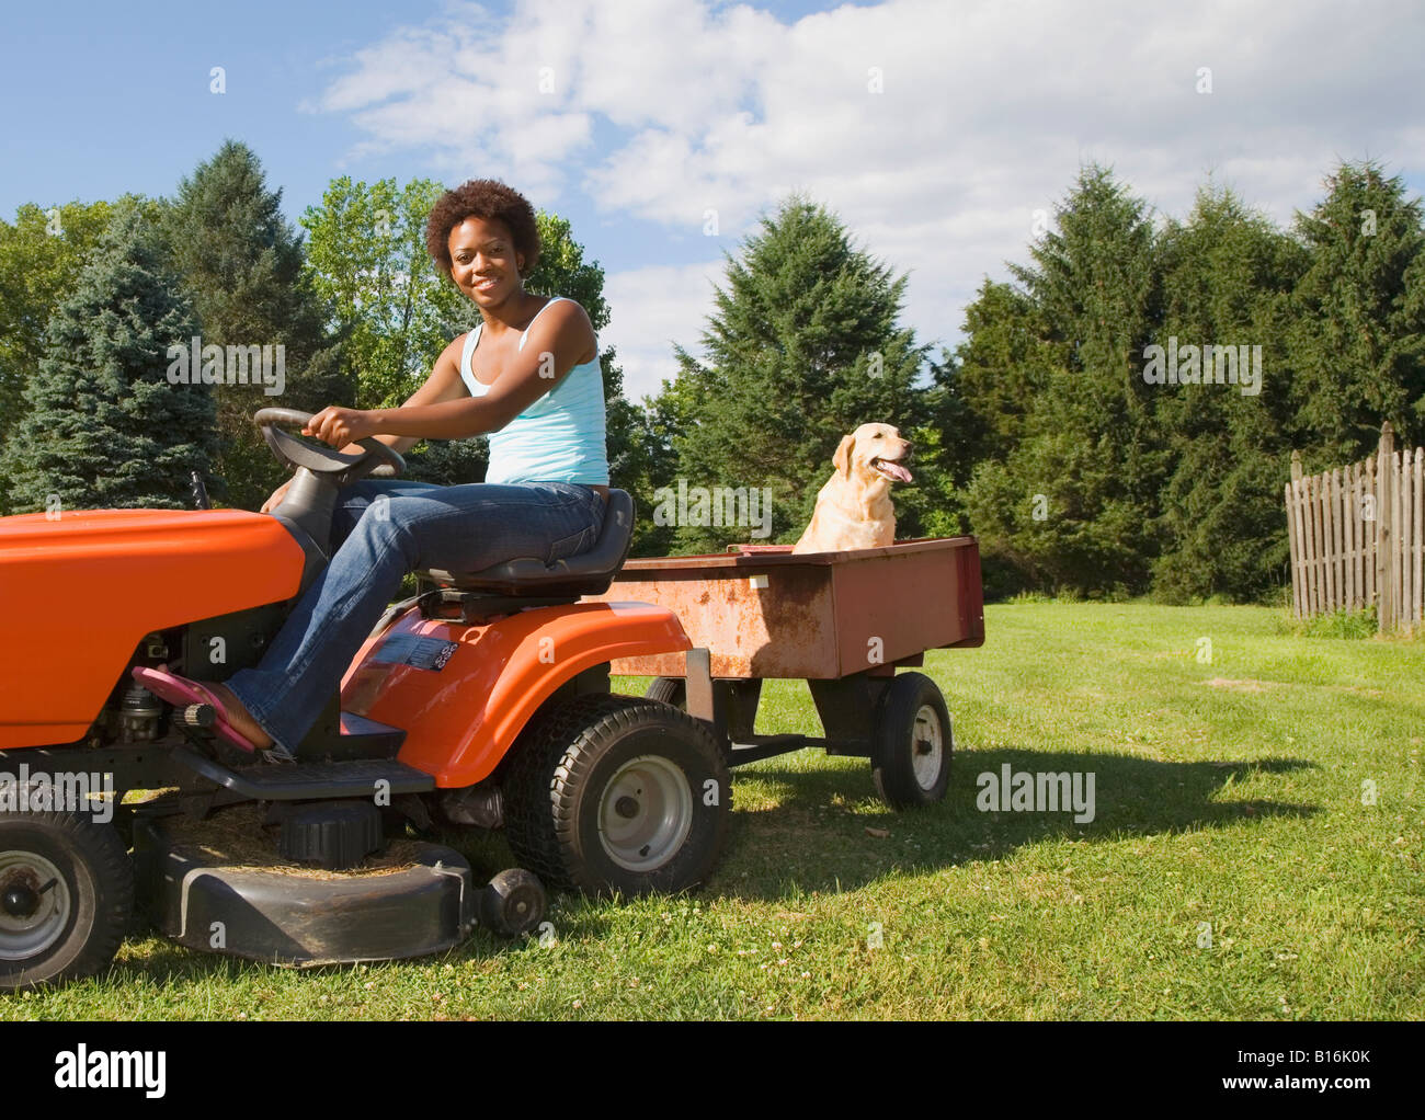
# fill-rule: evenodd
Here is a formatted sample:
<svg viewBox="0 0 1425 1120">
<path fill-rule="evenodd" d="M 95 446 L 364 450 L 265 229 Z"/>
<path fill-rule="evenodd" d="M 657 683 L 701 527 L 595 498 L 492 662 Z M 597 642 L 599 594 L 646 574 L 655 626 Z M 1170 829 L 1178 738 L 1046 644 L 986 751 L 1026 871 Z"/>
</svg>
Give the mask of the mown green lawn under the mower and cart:
<svg viewBox="0 0 1425 1120">
<path fill-rule="evenodd" d="M 559 896 L 553 943 L 480 930 L 311 972 L 138 939 L 100 980 L 0 996 L 0 1019 L 1425 1015 L 1425 643 L 1257 607 L 1019 603 L 986 626 L 928 657 L 958 740 L 931 809 L 882 808 L 864 761 L 784 755 L 735 772 L 698 895 Z M 764 694 L 760 731 L 815 732 L 804 684 Z M 1093 772 L 1096 819 L 978 811 L 1005 762 Z M 465 848 L 510 862 L 499 836 Z"/>
</svg>

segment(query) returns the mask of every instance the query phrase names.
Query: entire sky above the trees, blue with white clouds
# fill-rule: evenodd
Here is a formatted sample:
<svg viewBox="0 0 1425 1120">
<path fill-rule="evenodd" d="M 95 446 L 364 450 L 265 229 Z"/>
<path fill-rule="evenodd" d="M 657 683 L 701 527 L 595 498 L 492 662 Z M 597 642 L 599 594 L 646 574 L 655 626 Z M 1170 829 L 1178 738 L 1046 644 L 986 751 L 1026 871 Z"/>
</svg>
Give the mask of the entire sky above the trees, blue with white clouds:
<svg viewBox="0 0 1425 1120">
<path fill-rule="evenodd" d="M 0 217 L 170 194 L 224 137 L 294 224 L 341 174 L 502 178 L 604 266 L 638 396 L 792 188 L 911 274 L 905 321 L 945 345 L 1087 160 L 1167 214 L 1211 174 L 1287 222 L 1337 158 L 1419 194 L 1422 43 L 1425 6 L 1387 0 L 13 6 Z"/>
</svg>

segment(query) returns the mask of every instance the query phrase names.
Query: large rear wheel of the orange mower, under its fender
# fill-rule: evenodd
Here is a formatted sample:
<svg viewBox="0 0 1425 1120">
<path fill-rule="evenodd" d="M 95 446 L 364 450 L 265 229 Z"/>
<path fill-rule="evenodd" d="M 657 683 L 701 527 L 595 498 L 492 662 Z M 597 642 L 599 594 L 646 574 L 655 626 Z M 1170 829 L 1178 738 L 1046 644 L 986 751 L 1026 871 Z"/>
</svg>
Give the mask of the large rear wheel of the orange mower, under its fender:
<svg viewBox="0 0 1425 1120">
<path fill-rule="evenodd" d="M 507 839 L 546 883 L 677 893 L 717 866 L 731 785 L 717 741 L 691 715 L 638 697 L 576 697 L 513 750 Z"/>
</svg>

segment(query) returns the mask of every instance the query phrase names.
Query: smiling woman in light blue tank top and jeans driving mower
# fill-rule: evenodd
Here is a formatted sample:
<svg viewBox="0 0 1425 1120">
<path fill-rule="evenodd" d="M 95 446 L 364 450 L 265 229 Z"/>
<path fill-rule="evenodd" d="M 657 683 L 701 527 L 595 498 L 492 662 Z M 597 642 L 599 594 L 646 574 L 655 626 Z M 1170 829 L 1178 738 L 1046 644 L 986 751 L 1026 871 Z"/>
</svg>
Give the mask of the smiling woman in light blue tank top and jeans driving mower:
<svg viewBox="0 0 1425 1120">
<path fill-rule="evenodd" d="M 524 291 L 540 254 L 530 204 L 502 182 L 466 182 L 432 208 L 426 245 L 479 306 L 480 325 L 446 346 L 403 406 L 331 406 L 302 430 L 333 447 L 375 436 L 398 452 L 422 439 L 489 432 L 486 482 L 353 483 L 332 519 L 332 544 L 341 547 L 261 664 L 222 684 L 162 670 L 142 675 L 171 702 L 194 694 L 214 702 L 219 734 L 244 750 L 292 757 L 408 571 L 475 571 L 519 556 L 553 563 L 591 547 L 603 526 L 608 462 L 598 341 L 579 304 Z"/>
</svg>

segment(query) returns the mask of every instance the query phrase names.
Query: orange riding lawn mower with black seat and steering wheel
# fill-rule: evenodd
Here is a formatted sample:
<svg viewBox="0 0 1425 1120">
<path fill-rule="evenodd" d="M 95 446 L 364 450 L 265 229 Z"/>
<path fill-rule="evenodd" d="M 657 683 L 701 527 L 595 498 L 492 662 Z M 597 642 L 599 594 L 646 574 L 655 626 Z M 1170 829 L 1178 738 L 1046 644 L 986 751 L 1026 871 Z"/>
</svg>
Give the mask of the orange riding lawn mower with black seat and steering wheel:
<svg viewBox="0 0 1425 1120">
<path fill-rule="evenodd" d="M 0 989 L 103 970 L 135 906 L 192 949 L 306 966 L 442 952 L 476 923 L 527 935 L 544 885 L 677 892 L 717 865 L 731 797 L 707 722 L 610 693 L 613 658 L 687 653 L 681 623 L 580 601 L 627 557 L 621 490 L 579 556 L 418 571 L 295 762 L 138 683 L 258 664 L 331 559 L 338 492 L 405 470 L 380 440 L 345 455 L 282 430 L 308 419 L 255 416 L 295 469 L 269 514 L 198 484 L 194 510 L 0 519 Z M 234 821 L 266 859 L 205 842 Z M 462 828 L 503 828 L 520 866 L 477 885 L 429 839 Z"/>
</svg>

